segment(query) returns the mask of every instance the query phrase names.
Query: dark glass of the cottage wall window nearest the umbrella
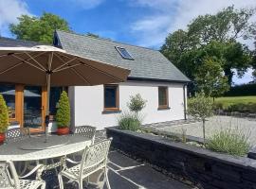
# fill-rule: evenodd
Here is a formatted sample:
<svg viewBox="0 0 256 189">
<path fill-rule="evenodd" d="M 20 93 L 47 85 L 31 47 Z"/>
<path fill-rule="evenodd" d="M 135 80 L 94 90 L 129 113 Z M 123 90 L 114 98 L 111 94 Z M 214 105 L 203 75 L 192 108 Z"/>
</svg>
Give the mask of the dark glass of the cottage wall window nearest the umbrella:
<svg viewBox="0 0 256 189">
<path fill-rule="evenodd" d="M 105 108 L 117 108 L 117 87 L 105 86 L 104 88 L 104 107 Z"/>
</svg>

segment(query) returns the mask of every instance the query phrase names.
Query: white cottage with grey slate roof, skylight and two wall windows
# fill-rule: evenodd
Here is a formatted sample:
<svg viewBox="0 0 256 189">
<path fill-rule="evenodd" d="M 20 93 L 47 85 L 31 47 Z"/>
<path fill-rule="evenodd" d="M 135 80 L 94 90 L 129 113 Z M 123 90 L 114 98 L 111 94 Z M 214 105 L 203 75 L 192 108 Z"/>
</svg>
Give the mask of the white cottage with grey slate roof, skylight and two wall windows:
<svg viewBox="0 0 256 189">
<path fill-rule="evenodd" d="M 143 124 L 186 119 L 186 85 L 190 79 L 159 51 L 59 30 L 54 34 L 54 45 L 131 70 L 123 83 L 69 87 L 72 125 L 92 125 L 97 129 L 116 126 L 134 94 L 147 100 L 142 110 Z"/>
</svg>

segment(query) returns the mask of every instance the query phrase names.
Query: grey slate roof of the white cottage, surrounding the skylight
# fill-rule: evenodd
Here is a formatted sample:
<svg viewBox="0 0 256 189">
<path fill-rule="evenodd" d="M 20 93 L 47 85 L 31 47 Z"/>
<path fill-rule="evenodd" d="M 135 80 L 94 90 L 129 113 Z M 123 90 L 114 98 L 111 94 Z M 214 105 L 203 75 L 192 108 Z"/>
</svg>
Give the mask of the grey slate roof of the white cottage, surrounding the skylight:
<svg viewBox="0 0 256 189">
<path fill-rule="evenodd" d="M 56 42 L 57 40 L 57 42 Z M 55 44 L 64 50 L 84 58 L 100 60 L 131 70 L 130 79 L 150 79 L 172 82 L 189 82 L 172 62 L 159 51 L 135 45 L 117 43 L 105 39 L 97 39 L 85 35 L 57 30 Z M 116 49 L 125 48 L 134 60 L 125 60 Z"/>
</svg>

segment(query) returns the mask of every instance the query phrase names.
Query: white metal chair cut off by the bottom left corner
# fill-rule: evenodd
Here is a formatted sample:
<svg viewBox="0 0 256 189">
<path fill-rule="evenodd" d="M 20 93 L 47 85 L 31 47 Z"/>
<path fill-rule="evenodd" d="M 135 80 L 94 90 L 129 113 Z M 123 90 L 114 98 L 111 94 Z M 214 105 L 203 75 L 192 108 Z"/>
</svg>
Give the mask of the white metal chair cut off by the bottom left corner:
<svg viewBox="0 0 256 189">
<path fill-rule="evenodd" d="M 43 167 L 42 164 L 38 164 L 31 172 L 24 177 L 18 177 L 14 164 L 10 161 L 0 161 L 0 188 L 1 189 L 36 189 L 46 188 L 46 182 L 37 177 L 37 180 L 23 180 L 27 178 L 35 171 L 40 171 Z"/>
</svg>

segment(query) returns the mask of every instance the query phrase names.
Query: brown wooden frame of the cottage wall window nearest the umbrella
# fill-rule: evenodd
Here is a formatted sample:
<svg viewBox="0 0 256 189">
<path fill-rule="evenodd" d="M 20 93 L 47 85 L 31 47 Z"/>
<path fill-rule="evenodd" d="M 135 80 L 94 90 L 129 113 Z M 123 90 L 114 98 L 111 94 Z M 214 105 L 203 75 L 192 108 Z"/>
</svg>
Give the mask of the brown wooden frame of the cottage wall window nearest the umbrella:
<svg viewBox="0 0 256 189">
<path fill-rule="evenodd" d="M 115 87 L 116 88 L 116 107 L 105 107 L 105 88 Z M 119 85 L 118 84 L 105 84 L 103 85 L 103 112 L 119 112 Z"/>
</svg>

